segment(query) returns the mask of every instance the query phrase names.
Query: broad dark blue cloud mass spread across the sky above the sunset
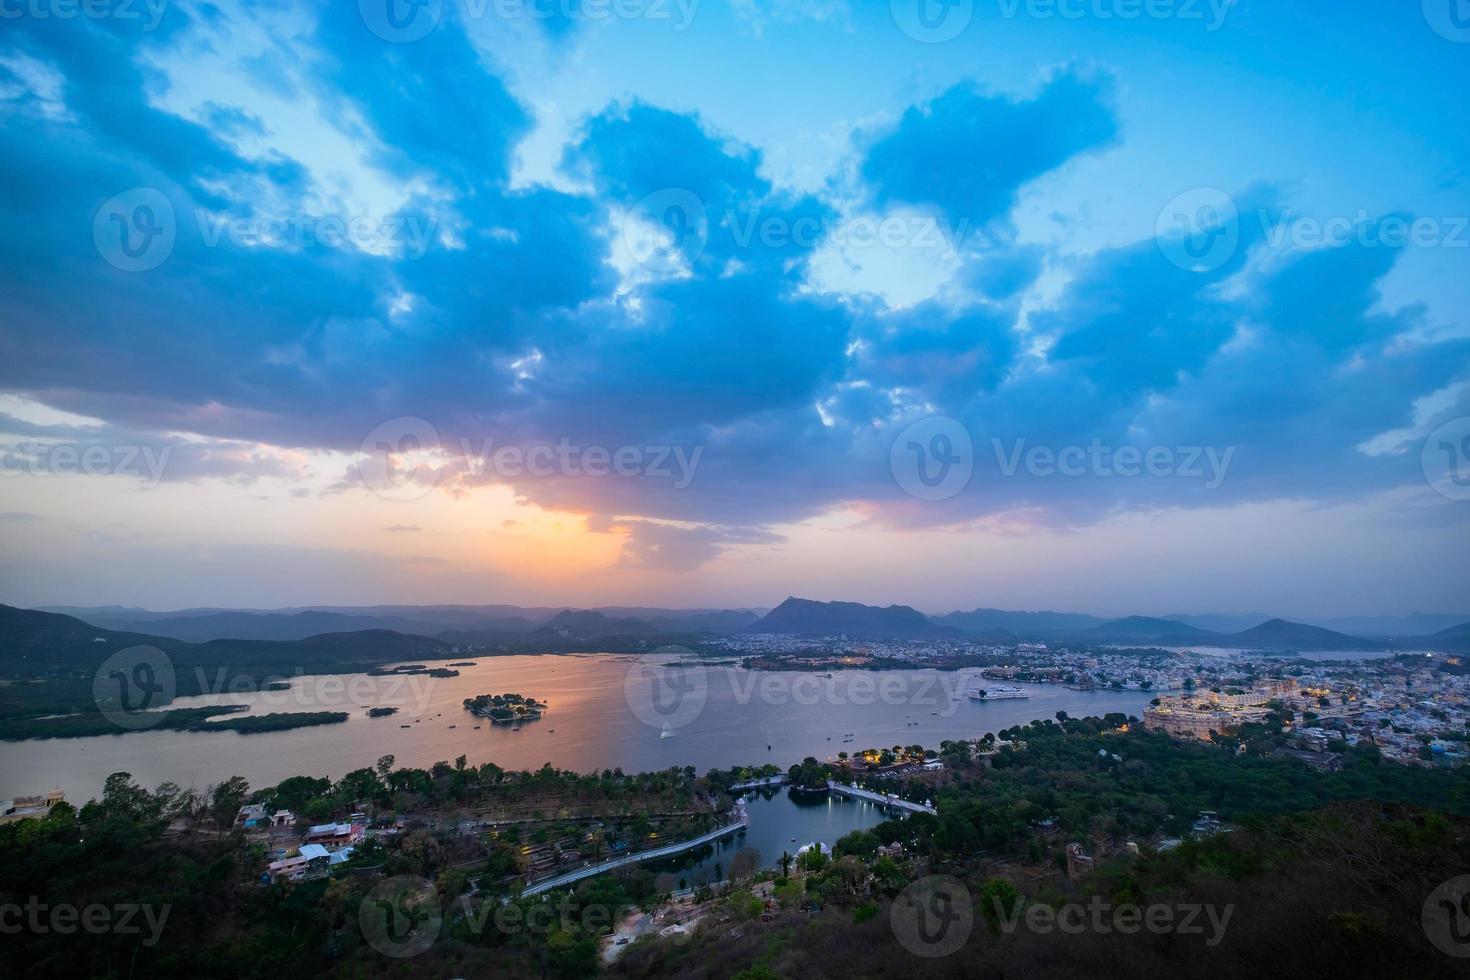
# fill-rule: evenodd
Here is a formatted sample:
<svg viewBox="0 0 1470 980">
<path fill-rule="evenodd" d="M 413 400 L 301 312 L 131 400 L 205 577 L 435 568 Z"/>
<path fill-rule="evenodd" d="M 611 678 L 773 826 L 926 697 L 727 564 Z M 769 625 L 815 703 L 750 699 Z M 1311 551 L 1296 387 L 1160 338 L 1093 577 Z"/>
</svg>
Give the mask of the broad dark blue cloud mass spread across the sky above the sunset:
<svg viewBox="0 0 1470 980">
<path fill-rule="evenodd" d="M 772 21 L 838 16 L 838 4 L 759 7 Z M 1201 272 L 1170 260 L 1169 234 L 1091 254 L 1019 241 L 1028 185 L 1125 138 L 1111 75 L 1061 69 L 1028 97 L 953 85 L 863 132 L 850 184 L 808 194 L 776 185 L 760 147 L 707 118 L 626 98 L 582 119 L 563 190 L 512 188 L 534 110 L 445 10 L 425 40 L 382 44 L 353 4 L 325 4 L 254 56 L 290 66 L 273 96 L 320 112 L 401 195 L 375 216 L 388 234 L 337 244 L 219 234 L 276 220 L 319 231 L 353 195 L 248 106 L 204 100 L 185 116 L 154 97 L 172 81 L 154 56 L 184 57 L 216 18 L 248 15 L 169 6 L 151 34 L 10 25 L 4 50 L 28 68 L 0 59 L 16 93 L 0 103 L 0 159 L 21 163 L 0 220 L 24 234 L 0 241 L 0 389 L 104 425 L 7 432 L 168 447 L 163 479 L 178 480 L 303 479 L 300 450 L 340 450 L 357 455 L 326 492 L 363 492 L 365 438 L 425 419 L 440 442 L 415 478 L 426 488 L 504 483 L 532 504 L 617 514 L 588 527 L 622 527 L 623 561 L 688 569 L 844 507 L 895 526 L 998 514 L 1072 526 L 1411 485 L 1416 447 L 1357 447 L 1424 422 L 1416 400 L 1467 376 L 1464 341 L 1429 344 L 1423 309 L 1383 309 L 1398 250 L 1277 254 L 1239 220 L 1238 247 Z M 172 251 L 146 272 L 110 264 L 93 239 L 98 209 L 129 188 L 156 190 L 175 222 Z M 1242 215 L 1288 203 L 1272 185 L 1235 197 Z M 823 235 L 854 209 L 935 212 L 985 234 L 958 250 L 951 282 L 894 307 L 814 282 Z M 651 254 L 631 231 L 648 232 Z M 956 497 L 922 502 L 889 451 L 935 414 L 972 433 L 978 470 Z M 992 439 L 1235 457 L 1205 492 L 1007 476 Z M 698 461 L 682 485 L 645 472 L 532 479 L 478 467 L 487 441 Z"/>
</svg>

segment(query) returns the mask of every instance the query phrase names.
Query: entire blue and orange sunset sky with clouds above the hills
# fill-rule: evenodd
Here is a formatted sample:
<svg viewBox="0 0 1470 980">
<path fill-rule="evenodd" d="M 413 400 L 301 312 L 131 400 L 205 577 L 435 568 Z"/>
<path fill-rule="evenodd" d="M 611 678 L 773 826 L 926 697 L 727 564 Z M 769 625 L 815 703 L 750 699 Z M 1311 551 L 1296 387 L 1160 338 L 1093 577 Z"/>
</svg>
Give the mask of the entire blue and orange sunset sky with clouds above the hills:
<svg viewBox="0 0 1470 980">
<path fill-rule="evenodd" d="M 1463 0 L 0 4 L 0 601 L 1470 611 Z"/>
</svg>

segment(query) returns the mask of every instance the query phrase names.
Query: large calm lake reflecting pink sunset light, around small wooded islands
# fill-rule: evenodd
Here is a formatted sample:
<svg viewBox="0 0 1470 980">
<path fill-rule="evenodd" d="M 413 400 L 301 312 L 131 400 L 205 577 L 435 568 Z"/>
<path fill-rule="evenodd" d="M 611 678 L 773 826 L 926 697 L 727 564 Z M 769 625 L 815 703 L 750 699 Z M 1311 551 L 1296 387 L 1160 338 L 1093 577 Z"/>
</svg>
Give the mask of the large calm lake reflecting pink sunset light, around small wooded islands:
<svg viewBox="0 0 1470 980">
<path fill-rule="evenodd" d="M 147 788 L 172 780 L 203 789 L 229 776 L 262 788 L 297 774 L 337 779 L 388 754 L 397 765 L 415 767 L 462 754 L 472 765 L 504 768 L 786 767 L 807 755 L 828 758 L 867 746 L 938 748 L 942 739 L 998 732 L 1058 710 L 1136 716 L 1152 696 L 1019 685 L 1029 699 L 978 702 L 964 696 L 978 671 L 662 673 L 666 663 L 673 661 L 613 654 L 488 657 L 459 667 L 457 677 L 307 676 L 294 679 L 290 692 L 181 698 L 175 707 L 245 704 L 256 714 L 331 710 L 348 711 L 350 718 L 259 735 L 143 730 L 0 742 L 0 798 L 60 786 L 81 804 L 100 795 L 115 771 L 132 773 Z M 550 710 L 539 721 L 507 727 L 463 708 L 465 698 L 503 692 L 548 701 Z M 400 711 L 369 718 L 365 705 Z M 847 733 L 851 741 L 844 741 Z"/>
</svg>

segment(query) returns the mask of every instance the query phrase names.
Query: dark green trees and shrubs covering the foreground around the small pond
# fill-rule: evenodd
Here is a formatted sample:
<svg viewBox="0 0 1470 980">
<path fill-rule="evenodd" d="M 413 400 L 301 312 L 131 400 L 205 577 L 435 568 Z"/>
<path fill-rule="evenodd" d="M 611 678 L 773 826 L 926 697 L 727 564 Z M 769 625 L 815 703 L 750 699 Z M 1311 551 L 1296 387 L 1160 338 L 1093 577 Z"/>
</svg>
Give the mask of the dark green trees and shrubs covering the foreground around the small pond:
<svg viewBox="0 0 1470 980">
<path fill-rule="evenodd" d="M 944 745 L 942 773 L 892 780 L 932 795 L 936 817 L 851 833 L 831 855 L 782 855 L 779 874 L 736 855 L 723 890 L 692 883 L 700 929 L 639 939 L 612 973 L 857 977 L 923 965 L 957 977 L 1454 976 L 1458 964 L 1429 945 L 1420 911 L 1435 886 L 1470 867 L 1466 773 L 1366 754 L 1319 773 L 1123 723 L 1033 723 L 983 739 L 982 754 Z M 46 818 L 0 826 L 0 902 L 171 907 L 151 945 L 146 930 L 7 936 L 0 976 L 594 976 L 609 971 L 598 943 L 622 915 L 659 907 L 682 883 L 631 867 L 528 899 L 520 889 L 538 855 L 576 865 L 692 836 L 714 826 L 729 786 L 779 771 L 513 773 L 465 757 L 426 770 L 394 761 L 260 790 L 235 777 L 201 792 L 148 792 L 119 773 L 81 810 L 62 804 Z M 828 771 L 807 760 L 791 776 Z M 320 877 L 262 884 L 269 855 L 232 829 L 244 802 L 313 823 L 363 811 L 376 836 Z M 1236 829 L 1191 835 L 1200 810 Z M 469 814 L 487 827 L 465 833 Z M 1183 842 L 1160 851 L 1164 836 Z M 1097 857 L 1076 880 L 1061 873 L 1070 842 Z M 441 912 L 434 943 L 401 961 L 372 948 L 360 914 L 369 892 L 395 876 L 428 882 Z M 894 902 L 925 876 L 960 880 L 975 907 L 969 942 L 933 964 L 897 946 L 892 927 Z M 1208 902 L 1235 914 L 1214 946 L 1201 936 L 1007 927 L 1028 909 L 1094 898 Z M 426 929 L 428 907 L 401 911 Z"/>
</svg>

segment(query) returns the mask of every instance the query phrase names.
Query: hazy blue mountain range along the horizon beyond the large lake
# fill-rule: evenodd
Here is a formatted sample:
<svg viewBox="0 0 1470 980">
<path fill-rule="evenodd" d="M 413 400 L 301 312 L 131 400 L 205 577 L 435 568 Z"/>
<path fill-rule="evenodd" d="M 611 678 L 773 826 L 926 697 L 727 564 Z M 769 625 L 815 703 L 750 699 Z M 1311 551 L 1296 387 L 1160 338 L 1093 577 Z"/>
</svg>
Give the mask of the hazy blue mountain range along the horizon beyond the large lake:
<svg viewBox="0 0 1470 980">
<path fill-rule="evenodd" d="M 1104 619 L 1086 613 L 975 608 L 928 616 L 910 605 L 864 605 L 791 597 L 766 611 L 757 608 L 660 607 L 517 607 L 369 605 L 291 610 L 178 610 L 135 607 L 0 607 L 0 663 L 43 649 L 62 660 L 96 652 L 97 636 L 115 644 L 151 644 L 216 657 L 275 663 L 275 658 L 379 657 L 384 648 L 413 657 L 454 645 L 498 645 L 501 649 L 570 649 L 620 644 L 642 649 L 663 642 L 692 642 L 731 633 L 791 633 L 851 639 L 979 638 L 995 642 L 1051 641 L 1079 644 L 1147 644 L 1270 651 L 1445 649 L 1470 652 L 1470 616 L 1414 614 L 1357 617 L 1385 632 L 1347 632 L 1336 620 L 1294 621 L 1279 617 L 1191 614 Z M 16 616 L 34 617 L 22 629 Z M 1408 627 L 1427 627 L 1411 633 Z M 335 638 L 335 639 L 329 639 Z M 614 644 L 616 641 L 616 644 Z"/>
</svg>

